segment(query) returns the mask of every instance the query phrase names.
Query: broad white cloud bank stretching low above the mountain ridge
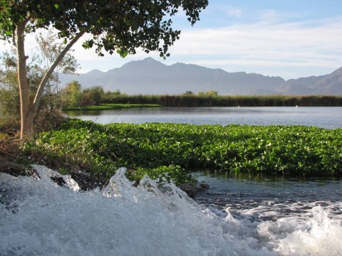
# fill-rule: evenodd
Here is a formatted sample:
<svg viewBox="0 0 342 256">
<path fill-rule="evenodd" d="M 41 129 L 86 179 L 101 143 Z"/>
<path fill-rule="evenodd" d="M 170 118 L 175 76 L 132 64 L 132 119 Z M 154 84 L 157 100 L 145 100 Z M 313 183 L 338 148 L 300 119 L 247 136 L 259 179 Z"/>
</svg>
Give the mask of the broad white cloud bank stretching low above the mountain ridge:
<svg viewBox="0 0 342 256">
<path fill-rule="evenodd" d="M 323 75 L 341 67 L 342 16 L 279 23 L 271 22 L 271 14 L 270 11 L 269 22 L 183 30 L 180 40 L 170 48 L 171 57 L 163 62 L 194 63 L 230 72 L 246 71 L 284 78 Z M 33 41 L 33 37 L 27 37 L 26 52 L 33 48 Z M 139 50 L 124 59 L 118 54 L 98 57 L 94 50 L 84 50 L 81 41 L 74 48 L 73 55 L 81 63 L 81 73 L 95 68 L 104 71 L 118 68 L 130 60 L 147 56 L 162 60 L 158 53 L 147 55 Z"/>
</svg>

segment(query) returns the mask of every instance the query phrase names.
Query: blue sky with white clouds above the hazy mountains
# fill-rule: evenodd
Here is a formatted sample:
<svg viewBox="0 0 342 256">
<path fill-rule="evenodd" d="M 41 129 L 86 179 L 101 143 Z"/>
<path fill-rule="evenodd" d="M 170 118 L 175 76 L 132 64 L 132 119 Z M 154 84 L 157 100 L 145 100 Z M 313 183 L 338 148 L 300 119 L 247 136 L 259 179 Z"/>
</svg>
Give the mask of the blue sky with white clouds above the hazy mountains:
<svg viewBox="0 0 342 256">
<path fill-rule="evenodd" d="M 78 73 L 147 57 L 166 65 L 192 63 L 286 80 L 326 75 L 342 66 L 342 0 L 209 0 L 200 18 L 194 26 L 182 12 L 173 18 L 173 28 L 182 33 L 166 60 L 142 50 L 126 58 L 98 57 L 80 41 L 73 52 L 81 65 Z"/>
</svg>

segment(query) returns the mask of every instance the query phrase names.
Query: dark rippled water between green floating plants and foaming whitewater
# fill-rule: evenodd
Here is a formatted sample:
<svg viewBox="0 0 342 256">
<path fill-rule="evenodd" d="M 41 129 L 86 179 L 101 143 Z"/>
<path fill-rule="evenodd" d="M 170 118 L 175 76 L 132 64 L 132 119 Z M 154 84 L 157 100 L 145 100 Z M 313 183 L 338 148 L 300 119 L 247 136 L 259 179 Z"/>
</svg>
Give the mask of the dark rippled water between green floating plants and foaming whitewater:
<svg viewBox="0 0 342 256">
<path fill-rule="evenodd" d="M 214 210 L 228 209 L 235 218 L 251 221 L 301 217 L 321 206 L 330 218 L 342 220 L 342 181 L 322 178 L 235 178 L 195 173 L 210 189 L 195 200 Z M 224 211 L 222 212 L 224 213 Z"/>
</svg>

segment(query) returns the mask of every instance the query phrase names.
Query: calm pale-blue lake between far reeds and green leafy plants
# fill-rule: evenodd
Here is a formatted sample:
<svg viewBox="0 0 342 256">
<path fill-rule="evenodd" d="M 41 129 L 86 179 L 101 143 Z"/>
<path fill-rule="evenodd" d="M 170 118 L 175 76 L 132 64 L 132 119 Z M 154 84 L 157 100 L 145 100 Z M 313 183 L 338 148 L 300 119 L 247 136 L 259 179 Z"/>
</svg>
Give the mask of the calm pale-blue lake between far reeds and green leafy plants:
<svg viewBox="0 0 342 256">
<path fill-rule="evenodd" d="M 98 112 L 68 112 L 101 124 L 175 122 L 187 124 L 299 124 L 342 127 L 342 107 L 162 107 Z"/>
</svg>

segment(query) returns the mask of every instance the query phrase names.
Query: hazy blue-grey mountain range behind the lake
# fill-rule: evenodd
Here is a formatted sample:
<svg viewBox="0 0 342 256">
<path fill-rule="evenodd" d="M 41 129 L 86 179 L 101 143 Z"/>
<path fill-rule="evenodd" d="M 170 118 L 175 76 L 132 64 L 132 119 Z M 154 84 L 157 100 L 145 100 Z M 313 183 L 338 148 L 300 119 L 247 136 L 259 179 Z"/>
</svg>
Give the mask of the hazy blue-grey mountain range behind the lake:
<svg viewBox="0 0 342 256">
<path fill-rule="evenodd" d="M 342 95 L 342 68 L 328 75 L 284 80 L 244 72 L 175 63 L 165 65 L 153 58 L 130 61 L 121 68 L 81 75 L 61 75 L 61 84 L 77 80 L 83 87 L 101 85 L 105 91 L 127 94 L 181 94 L 214 90 L 219 95 Z"/>
</svg>

